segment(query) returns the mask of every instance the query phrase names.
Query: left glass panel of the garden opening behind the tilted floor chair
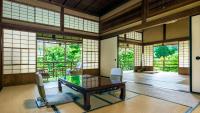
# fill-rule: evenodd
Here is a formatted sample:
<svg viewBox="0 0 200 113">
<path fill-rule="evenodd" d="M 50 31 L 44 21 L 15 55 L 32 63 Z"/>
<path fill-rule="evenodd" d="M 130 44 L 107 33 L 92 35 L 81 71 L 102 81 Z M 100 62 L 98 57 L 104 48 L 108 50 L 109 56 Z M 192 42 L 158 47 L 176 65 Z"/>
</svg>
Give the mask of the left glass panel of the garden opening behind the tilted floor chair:
<svg viewBox="0 0 200 113">
<path fill-rule="evenodd" d="M 38 40 L 37 69 L 46 70 L 52 77 L 65 75 L 65 44 Z"/>
</svg>

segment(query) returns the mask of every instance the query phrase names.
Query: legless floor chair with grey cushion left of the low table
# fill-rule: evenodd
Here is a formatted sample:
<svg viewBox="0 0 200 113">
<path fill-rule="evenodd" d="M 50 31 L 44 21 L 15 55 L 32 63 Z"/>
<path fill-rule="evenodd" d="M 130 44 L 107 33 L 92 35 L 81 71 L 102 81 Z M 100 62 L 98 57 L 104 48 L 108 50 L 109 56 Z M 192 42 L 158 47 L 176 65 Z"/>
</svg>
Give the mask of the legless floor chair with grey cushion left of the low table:
<svg viewBox="0 0 200 113">
<path fill-rule="evenodd" d="M 40 97 L 36 99 L 38 107 L 59 105 L 73 101 L 73 99 L 70 96 L 64 93 L 46 95 L 42 75 L 39 72 L 37 72 L 36 75 L 37 87 L 40 94 Z"/>
</svg>

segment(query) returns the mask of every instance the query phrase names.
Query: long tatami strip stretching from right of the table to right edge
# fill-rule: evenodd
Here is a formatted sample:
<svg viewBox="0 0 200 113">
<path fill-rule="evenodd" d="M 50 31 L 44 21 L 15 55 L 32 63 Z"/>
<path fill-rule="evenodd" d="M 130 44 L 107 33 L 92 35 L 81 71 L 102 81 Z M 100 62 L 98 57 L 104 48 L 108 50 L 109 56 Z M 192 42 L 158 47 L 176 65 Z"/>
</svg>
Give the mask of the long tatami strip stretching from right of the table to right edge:
<svg viewBox="0 0 200 113">
<path fill-rule="evenodd" d="M 153 86 L 129 82 L 127 82 L 126 86 L 128 90 L 138 94 L 148 95 L 190 107 L 195 107 L 200 101 L 200 96 L 196 94 L 160 89 Z"/>
</svg>

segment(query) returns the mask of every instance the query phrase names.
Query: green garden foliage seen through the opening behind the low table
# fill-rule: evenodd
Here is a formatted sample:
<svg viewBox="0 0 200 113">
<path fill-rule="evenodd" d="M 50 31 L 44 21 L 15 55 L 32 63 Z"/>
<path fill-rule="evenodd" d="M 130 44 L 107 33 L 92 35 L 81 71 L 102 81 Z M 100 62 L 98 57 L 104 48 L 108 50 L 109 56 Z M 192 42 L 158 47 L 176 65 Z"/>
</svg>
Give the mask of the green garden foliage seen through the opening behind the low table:
<svg viewBox="0 0 200 113">
<path fill-rule="evenodd" d="M 54 76 L 63 76 L 66 70 L 73 70 L 82 60 L 82 51 L 80 44 L 49 44 L 44 48 L 38 46 L 38 51 L 43 56 L 37 57 L 37 67 L 48 70 L 48 73 Z"/>
</svg>

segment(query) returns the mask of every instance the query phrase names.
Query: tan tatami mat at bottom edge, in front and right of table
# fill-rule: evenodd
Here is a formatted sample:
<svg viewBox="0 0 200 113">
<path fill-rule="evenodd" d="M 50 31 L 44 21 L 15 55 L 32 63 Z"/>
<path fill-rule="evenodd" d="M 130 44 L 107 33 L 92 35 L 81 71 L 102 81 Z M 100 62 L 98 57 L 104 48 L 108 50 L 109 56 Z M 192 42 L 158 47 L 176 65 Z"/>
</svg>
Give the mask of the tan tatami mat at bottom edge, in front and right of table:
<svg viewBox="0 0 200 113">
<path fill-rule="evenodd" d="M 137 96 L 90 113 L 185 113 L 189 107 L 147 96 Z"/>
</svg>

